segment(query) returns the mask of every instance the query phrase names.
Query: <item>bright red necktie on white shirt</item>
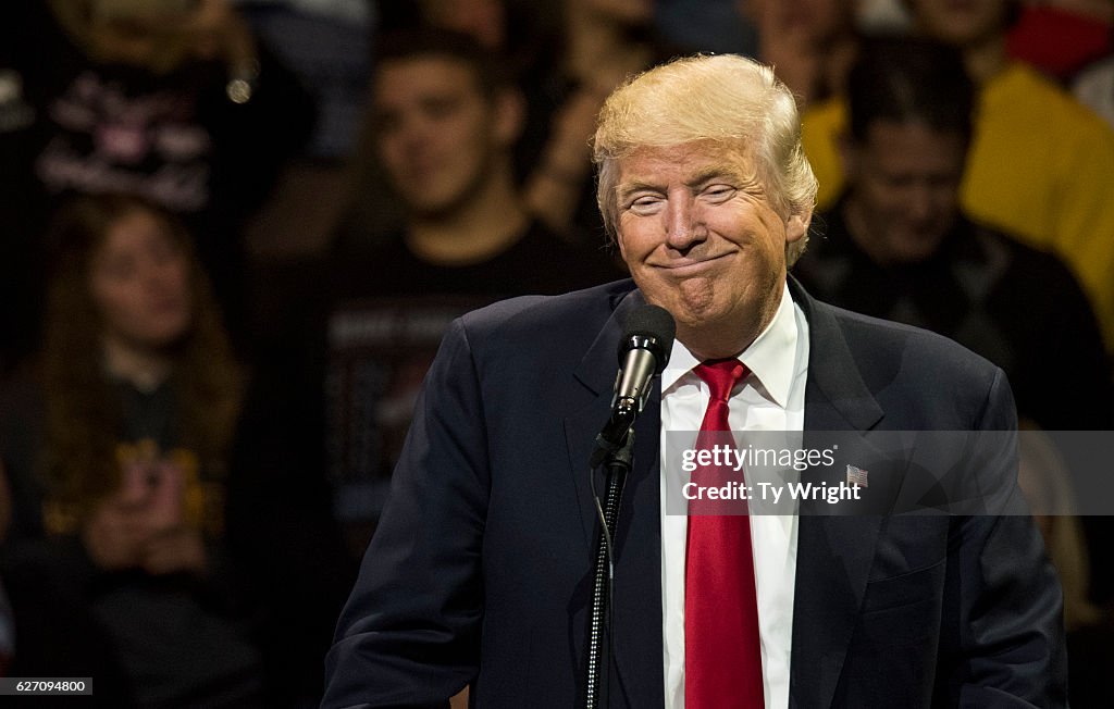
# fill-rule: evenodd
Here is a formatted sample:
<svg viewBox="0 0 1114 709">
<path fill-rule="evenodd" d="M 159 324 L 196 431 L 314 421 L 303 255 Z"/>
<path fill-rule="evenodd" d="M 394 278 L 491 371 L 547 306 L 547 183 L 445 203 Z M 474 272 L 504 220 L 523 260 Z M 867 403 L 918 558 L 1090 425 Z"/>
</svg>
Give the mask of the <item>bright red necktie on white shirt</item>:
<svg viewBox="0 0 1114 709">
<path fill-rule="evenodd" d="M 712 392 L 697 449 L 710 449 L 717 443 L 734 447 L 727 398 L 735 383 L 746 376 L 746 367 L 737 360 L 722 360 L 700 364 L 694 372 Z M 698 467 L 693 471 L 692 480 L 701 485 L 721 486 L 729 481 L 742 482 L 742 473 Z M 726 509 L 745 511 L 745 504 L 733 500 Z M 703 508 L 705 512 L 709 510 Z M 691 513 L 685 557 L 685 709 L 762 707 L 762 652 L 750 518 Z"/>
</svg>

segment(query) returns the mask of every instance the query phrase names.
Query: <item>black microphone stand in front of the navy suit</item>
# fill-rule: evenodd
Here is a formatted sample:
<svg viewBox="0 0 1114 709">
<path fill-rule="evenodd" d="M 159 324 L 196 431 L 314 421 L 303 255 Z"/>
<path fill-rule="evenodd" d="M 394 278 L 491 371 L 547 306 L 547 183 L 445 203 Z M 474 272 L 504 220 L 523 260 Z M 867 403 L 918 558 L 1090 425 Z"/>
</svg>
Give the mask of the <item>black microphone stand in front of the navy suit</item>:
<svg viewBox="0 0 1114 709">
<path fill-rule="evenodd" d="M 597 439 L 599 443 L 599 439 Z M 626 484 L 627 474 L 634 462 L 634 431 L 629 431 L 620 446 L 609 450 L 603 456 L 593 455 L 592 467 L 588 471 L 592 476 L 592 494 L 596 502 L 596 514 L 599 518 L 599 543 L 596 549 L 596 569 L 592 584 L 592 613 L 588 627 L 588 663 L 587 676 L 585 678 L 585 707 L 597 709 L 597 707 L 608 706 L 607 679 L 614 657 L 612 636 L 612 597 L 615 582 L 615 554 L 613 540 L 618 522 L 619 501 L 623 498 L 623 488 Z M 596 467 L 598 457 L 603 457 L 604 463 L 604 504 L 600 505 L 599 495 L 596 494 Z M 604 646 L 606 644 L 606 653 Z M 604 657 L 606 654 L 606 664 Z"/>
</svg>

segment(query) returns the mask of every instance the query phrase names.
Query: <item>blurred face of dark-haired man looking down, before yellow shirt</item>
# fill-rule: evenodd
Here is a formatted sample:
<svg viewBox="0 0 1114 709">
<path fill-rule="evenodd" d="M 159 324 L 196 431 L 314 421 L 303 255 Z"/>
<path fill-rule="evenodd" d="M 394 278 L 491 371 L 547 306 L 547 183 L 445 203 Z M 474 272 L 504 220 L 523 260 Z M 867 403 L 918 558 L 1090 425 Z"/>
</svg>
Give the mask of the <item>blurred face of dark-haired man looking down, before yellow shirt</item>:
<svg viewBox="0 0 1114 709">
<path fill-rule="evenodd" d="M 846 147 L 852 230 L 883 264 L 922 260 L 958 214 L 966 150 L 958 134 L 880 119 Z"/>
</svg>

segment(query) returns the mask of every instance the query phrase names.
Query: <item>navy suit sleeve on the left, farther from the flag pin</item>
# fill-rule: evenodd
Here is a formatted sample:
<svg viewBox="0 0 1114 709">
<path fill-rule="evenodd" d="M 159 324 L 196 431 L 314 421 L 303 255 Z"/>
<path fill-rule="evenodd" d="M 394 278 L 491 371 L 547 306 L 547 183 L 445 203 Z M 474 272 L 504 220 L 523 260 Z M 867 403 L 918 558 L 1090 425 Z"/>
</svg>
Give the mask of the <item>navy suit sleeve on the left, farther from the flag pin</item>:
<svg viewBox="0 0 1114 709">
<path fill-rule="evenodd" d="M 475 678 L 489 481 L 480 382 L 457 321 L 325 659 L 323 709 L 443 707 Z"/>
</svg>

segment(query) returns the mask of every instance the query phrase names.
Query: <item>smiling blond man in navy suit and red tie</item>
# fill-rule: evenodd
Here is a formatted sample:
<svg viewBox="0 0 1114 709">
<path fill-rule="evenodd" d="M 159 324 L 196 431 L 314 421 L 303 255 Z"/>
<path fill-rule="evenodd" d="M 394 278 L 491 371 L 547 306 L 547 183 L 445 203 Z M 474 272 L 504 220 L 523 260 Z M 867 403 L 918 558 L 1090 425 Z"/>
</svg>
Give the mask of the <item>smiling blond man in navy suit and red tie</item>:
<svg viewBox="0 0 1114 709">
<path fill-rule="evenodd" d="M 677 338 L 634 429 L 610 706 L 1063 706 L 1059 590 L 1024 515 L 754 514 L 720 528 L 745 548 L 690 563 L 709 528 L 667 513 L 661 452 L 665 432 L 707 430 L 716 397 L 721 426 L 805 447 L 824 431 L 1008 432 L 1013 398 L 1000 370 L 954 343 L 818 303 L 788 277 L 815 180 L 769 68 L 722 56 L 651 70 L 608 99 L 594 149 L 633 283 L 504 302 L 450 329 L 323 707 L 443 706 L 465 686 L 478 707 L 583 702 L 598 534 L 587 461 L 622 323 L 643 303 L 673 315 Z M 705 371 L 724 364 L 716 390 Z M 978 464 L 1009 505 L 1007 459 Z M 871 488 L 887 484 L 908 488 L 876 471 Z M 753 583 L 709 591 L 709 568 L 740 567 Z M 724 623 L 692 624 L 710 605 Z M 721 637 L 740 613 L 751 637 Z M 731 649 L 705 652 L 713 641 Z"/>
</svg>

